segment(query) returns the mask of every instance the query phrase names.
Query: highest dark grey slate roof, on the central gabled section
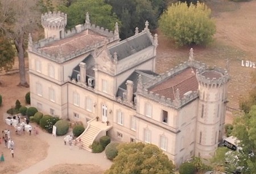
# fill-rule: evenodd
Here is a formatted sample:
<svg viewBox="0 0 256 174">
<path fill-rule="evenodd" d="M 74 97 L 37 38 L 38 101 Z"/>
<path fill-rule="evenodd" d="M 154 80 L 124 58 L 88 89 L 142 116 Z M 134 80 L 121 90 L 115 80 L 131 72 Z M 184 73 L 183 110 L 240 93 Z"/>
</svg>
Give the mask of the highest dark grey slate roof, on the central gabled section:
<svg viewBox="0 0 256 174">
<path fill-rule="evenodd" d="M 114 53 L 117 52 L 117 59 L 122 60 L 123 58 L 131 56 L 131 54 L 137 53 L 151 45 L 152 41 L 147 32 L 141 32 L 138 35 L 111 46 L 109 52 L 111 55 L 114 55 Z"/>
</svg>

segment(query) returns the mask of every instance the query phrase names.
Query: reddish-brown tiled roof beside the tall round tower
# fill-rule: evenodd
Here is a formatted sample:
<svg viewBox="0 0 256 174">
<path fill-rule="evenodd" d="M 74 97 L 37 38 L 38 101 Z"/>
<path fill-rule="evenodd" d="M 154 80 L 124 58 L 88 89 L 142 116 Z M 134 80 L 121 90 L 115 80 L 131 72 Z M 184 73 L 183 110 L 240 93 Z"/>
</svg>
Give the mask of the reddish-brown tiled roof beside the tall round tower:
<svg viewBox="0 0 256 174">
<path fill-rule="evenodd" d="M 162 82 L 155 84 L 148 88 L 148 91 L 152 91 L 160 96 L 165 96 L 172 100 L 175 99 L 175 91 L 179 88 L 180 97 L 182 97 L 188 91 L 197 91 L 198 82 L 196 79 L 196 69 L 188 67 L 179 74 L 171 76 Z"/>
</svg>

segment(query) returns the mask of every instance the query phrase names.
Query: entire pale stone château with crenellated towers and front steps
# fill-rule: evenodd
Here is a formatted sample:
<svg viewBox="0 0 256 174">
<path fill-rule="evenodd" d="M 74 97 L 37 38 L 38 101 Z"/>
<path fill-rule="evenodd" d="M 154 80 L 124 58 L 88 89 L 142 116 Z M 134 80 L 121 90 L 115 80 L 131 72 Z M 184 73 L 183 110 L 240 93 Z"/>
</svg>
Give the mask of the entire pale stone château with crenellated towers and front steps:
<svg viewBox="0 0 256 174">
<path fill-rule="evenodd" d="M 67 15 L 42 15 L 45 39 L 28 39 L 31 105 L 81 121 L 86 150 L 95 139 L 152 143 L 179 165 L 213 154 L 225 121 L 228 72 L 194 60 L 155 72 L 158 36 L 145 28 L 125 40 L 90 23 L 65 31 Z M 98 121 L 97 121 L 98 120 Z M 106 122 L 109 124 L 107 125 Z"/>
</svg>

